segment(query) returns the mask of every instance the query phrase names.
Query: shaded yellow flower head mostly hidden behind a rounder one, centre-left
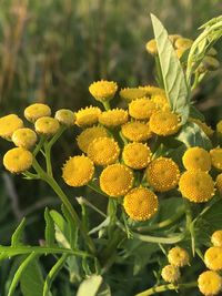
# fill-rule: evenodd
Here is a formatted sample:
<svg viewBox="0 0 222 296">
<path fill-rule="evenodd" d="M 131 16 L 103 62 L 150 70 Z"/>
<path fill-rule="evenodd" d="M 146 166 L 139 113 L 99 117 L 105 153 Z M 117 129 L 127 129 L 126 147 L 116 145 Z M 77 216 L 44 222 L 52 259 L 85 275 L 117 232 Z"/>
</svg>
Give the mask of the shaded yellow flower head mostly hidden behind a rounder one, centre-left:
<svg viewBox="0 0 222 296">
<path fill-rule="evenodd" d="M 77 137 L 78 146 L 87 153 L 89 144 L 97 137 L 108 136 L 108 132 L 102 126 L 92 126 L 85 129 L 81 132 L 80 135 Z"/>
</svg>

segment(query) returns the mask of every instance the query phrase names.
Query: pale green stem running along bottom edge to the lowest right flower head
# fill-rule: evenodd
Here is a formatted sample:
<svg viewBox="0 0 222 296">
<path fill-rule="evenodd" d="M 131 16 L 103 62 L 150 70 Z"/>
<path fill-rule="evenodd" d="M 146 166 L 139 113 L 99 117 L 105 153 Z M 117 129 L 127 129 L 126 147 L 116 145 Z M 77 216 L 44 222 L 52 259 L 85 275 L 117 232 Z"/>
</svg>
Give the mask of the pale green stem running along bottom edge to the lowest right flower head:
<svg viewBox="0 0 222 296">
<path fill-rule="evenodd" d="M 178 285 L 167 284 L 167 285 L 161 285 L 158 287 L 152 287 L 150 289 L 143 290 L 143 292 L 137 294 L 135 296 L 149 296 L 149 295 L 154 295 L 157 293 L 161 293 L 161 292 L 165 292 L 165 290 L 186 289 L 186 288 L 193 288 L 196 286 L 198 286 L 196 282 L 186 283 L 186 284 L 178 284 Z"/>
</svg>

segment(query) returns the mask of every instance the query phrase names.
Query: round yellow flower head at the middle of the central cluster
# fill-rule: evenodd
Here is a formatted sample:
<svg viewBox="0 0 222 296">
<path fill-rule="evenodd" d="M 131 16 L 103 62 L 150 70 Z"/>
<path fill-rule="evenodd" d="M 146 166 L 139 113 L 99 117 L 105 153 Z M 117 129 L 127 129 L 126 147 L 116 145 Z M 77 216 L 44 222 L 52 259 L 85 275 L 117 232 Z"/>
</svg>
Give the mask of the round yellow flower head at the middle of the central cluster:
<svg viewBox="0 0 222 296">
<path fill-rule="evenodd" d="M 151 150 L 142 143 L 129 143 L 122 152 L 124 163 L 134 170 L 147 167 L 151 161 Z"/>
</svg>

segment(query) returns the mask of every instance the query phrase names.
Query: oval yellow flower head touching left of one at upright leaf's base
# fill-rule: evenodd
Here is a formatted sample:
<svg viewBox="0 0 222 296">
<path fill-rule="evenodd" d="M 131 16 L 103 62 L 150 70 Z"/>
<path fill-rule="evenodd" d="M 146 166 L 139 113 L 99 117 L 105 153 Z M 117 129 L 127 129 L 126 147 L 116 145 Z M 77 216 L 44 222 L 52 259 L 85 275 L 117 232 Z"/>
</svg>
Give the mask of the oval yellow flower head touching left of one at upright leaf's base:
<svg viewBox="0 0 222 296">
<path fill-rule="evenodd" d="M 144 142 L 152 136 L 149 125 L 139 121 L 123 124 L 121 131 L 132 142 Z"/>
</svg>

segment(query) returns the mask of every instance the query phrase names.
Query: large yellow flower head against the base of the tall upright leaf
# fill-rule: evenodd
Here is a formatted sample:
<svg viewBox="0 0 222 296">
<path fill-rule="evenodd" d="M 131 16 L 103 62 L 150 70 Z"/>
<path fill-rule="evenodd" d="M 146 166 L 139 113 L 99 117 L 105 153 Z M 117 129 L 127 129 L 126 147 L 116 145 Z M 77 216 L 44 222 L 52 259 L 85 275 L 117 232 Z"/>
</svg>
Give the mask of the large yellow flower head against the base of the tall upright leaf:
<svg viewBox="0 0 222 296">
<path fill-rule="evenodd" d="M 159 111 L 150 118 L 150 130 L 158 135 L 175 134 L 180 125 L 180 119 L 170 111 Z"/>
</svg>

